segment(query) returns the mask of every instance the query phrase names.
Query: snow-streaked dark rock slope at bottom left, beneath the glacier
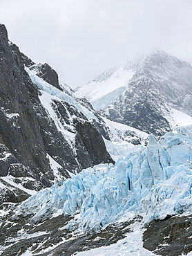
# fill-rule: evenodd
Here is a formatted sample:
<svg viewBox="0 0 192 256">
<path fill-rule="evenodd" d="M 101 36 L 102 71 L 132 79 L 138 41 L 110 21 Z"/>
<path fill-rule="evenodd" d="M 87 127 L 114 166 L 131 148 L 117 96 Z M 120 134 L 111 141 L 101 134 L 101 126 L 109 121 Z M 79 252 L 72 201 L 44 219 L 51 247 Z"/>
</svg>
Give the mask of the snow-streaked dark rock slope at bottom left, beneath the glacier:
<svg viewBox="0 0 192 256">
<path fill-rule="evenodd" d="M 6 208 L 6 204 L 2 207 Z M 109 246 L 124 239 L 127 232 L 133 232 L 131 224 L 134 221 L 141 221 L 140 217 L 137 217 L 122 223 L 112 223 L 97 232 L 77 233 L 73 237 L 74 231 L 68 230 L 64 226 L 74 217 L 65 217 L 61 214 L 42 221 L 36 226 L 26 217 L 15 220 L 11 216 L 12 212 L 10 211 L 9 216 L 0 219 L 0 244 L 5 246 L 5 250 L 3 250 L 5 256 L 16 256 L 19 253 L 25 253 L 26 250 L 30 250 L 34 255 L 70 256 L 77 252 Z M 23 230 L 23 233 L 20 230 Z M 38 234 L 38 232 L 41 233 Z M 13 243 L 12 241 L 17 242 Z M 45 252 L 44 250 L 47 248 L 49 250 Z"/>
</svg>

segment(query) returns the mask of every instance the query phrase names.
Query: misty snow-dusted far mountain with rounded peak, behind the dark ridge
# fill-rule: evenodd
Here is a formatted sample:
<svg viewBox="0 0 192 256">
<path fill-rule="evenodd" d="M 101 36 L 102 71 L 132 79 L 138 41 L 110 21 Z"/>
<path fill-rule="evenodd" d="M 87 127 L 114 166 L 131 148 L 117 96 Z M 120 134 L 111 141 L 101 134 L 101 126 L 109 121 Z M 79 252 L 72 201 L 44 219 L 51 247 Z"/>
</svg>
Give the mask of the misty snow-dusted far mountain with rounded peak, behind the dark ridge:
<svg viewBox="0 0 192 256">
<path fill-rule="evenodd" d="M 77 89 L 111 120 L 161 136 L 192 119 L 192 67 L 155 49 L 110 68 Z M 185 113 L 185 120 L 177 116 Z"/>
</svg>

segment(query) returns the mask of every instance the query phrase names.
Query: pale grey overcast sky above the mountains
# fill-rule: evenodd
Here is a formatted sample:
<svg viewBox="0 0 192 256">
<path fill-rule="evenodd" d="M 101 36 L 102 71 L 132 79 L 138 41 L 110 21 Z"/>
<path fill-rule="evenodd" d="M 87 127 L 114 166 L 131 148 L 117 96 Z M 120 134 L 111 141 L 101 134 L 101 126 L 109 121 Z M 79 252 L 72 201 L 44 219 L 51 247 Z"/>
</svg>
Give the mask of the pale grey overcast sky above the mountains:
<svg viewBox="0 0 192 256">
<path fill-rule="evenodd" d="M 10 41 L 73 88 L 157 47 L 192 63 L 192 0 L 0 0 Z"/>
</svg>

